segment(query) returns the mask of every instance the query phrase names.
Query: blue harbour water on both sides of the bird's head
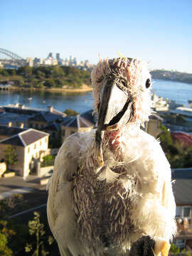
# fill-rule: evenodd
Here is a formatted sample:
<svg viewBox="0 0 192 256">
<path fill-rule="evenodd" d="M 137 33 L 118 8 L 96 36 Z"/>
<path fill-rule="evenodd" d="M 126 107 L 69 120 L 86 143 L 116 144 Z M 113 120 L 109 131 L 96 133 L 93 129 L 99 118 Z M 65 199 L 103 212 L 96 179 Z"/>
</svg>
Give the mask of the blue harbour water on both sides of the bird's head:
<svg viewBox="0 0 192 256">
<path fill-rule="evenodd" d="M 169 98 L 186 107 L 188 100 L 192 100 L 192 85 L 186 83 L 156 80 L 152 90 L 159 97 Z M 69 95 L 62 92 L 0 90 L 0 106 L 17 102 L 26 107 L 46 109 L 53 106 L 62 112 L 70 108 L 82 113 L 92 108 L 93 98 L 92 92 Z"/>
</svg>

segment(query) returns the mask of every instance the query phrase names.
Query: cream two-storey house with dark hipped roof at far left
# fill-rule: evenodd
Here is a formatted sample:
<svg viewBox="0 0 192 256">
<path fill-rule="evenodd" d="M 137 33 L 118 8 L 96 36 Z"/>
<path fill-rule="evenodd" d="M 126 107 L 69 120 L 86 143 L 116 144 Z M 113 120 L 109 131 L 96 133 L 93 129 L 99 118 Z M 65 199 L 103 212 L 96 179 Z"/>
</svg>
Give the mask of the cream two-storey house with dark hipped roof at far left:
<svg viewBox="0 0 192 256">
<path fill-rule="evenodd" d="M 16 127 L 15 127 L 16 128 Z M 48 137 L 49 134 L 36 129 L 24 129 L 23 131 L 12 127 L 13 133 L 10 132 L 10 127 L 4 127 L 9 132 L 5 139 L 0 141 L 0 156 L 1 161 L 4 160 L 4 152 L 8 145 L 14 146 L 17 154 L 17 163 L 11 166 L 13 171 L 19 176 L 28 176 L 35 161 L 42 159 L 43 156 L 49 154 Z"/>
</svg>

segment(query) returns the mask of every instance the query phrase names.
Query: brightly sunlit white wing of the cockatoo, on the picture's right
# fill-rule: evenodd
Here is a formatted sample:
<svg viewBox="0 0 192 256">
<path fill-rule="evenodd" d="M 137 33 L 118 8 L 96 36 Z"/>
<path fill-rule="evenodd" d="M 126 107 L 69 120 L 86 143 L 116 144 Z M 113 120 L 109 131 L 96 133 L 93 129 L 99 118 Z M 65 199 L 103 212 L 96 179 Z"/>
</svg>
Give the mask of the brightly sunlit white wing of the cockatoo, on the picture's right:
<svg viewBox="0 0 192 256">
<path fill-rule="evenodd" d="M 134 222 L 137 222 L 136 225 L 141 223 L 144 233 L 151 238 L 169 241 L 176 233 L 176 204 L 170 165 L 154 137 L 144 132 L 140 136 L 142 156 L 133 166 L 134 174 L 139 176 L 141 193 L 135 204 Z"/>
</svg>

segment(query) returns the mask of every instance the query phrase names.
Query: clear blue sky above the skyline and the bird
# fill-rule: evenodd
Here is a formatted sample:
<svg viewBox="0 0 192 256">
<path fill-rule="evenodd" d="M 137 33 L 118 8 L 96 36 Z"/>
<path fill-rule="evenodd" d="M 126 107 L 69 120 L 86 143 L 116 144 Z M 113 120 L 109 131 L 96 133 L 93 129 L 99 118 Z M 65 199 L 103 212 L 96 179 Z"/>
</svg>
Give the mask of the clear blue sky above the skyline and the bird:
<svg viewBox="0 0 192 256">
<path fill-rule="evenodd" d="M 122 55 L 192 73 L 192 0 L 1 0 L 0 48 L 97 63 Z"/>
</svg>

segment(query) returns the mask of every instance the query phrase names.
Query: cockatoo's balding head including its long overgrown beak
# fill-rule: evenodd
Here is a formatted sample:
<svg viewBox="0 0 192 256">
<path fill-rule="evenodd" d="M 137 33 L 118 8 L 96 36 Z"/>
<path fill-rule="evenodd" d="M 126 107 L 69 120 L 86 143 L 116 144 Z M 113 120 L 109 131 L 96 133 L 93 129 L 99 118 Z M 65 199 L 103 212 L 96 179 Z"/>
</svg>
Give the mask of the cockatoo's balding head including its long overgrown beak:
<svg viewBox="0 0 192 256">
<path fill-rule="evenodd" d="M 105 131 L 140 126 L 151 114 L 151 76 L 146 63 L 132 58 L 100 60 L 92 70 L 93 97 L 97 112 L 96 149 L 102 166 Z"/>
</svg>

